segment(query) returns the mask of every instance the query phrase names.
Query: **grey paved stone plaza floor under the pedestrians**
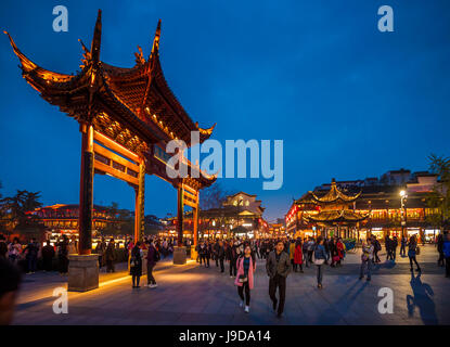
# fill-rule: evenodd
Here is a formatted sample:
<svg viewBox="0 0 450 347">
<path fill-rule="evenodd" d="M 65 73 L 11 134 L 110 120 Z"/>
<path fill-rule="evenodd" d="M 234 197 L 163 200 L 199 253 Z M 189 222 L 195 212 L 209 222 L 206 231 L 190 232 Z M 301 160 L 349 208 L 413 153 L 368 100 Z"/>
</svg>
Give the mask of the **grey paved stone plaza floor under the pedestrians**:
<svg viewBox="0 0 450 347">
<path fill-rule="evenodd" d="M 57 273 L 26 275 L 14 324 L 450 324 L 450 279 L 436 265 L 434 246 L 423 247 L 422 275 L 411 277 L 408 258 L 376 266 L 372 281 L 359 281 L 359 254 L 348 254 L 342 268 L 325 268 L 323 290 L 316 287 L 314 268 L 291 273 L 285 312 L 278 319 L 268 296 L 265 261 L 257 262 L 250 312 L 239 307 L 228 265 L 220 274 L 215 262 L 206 269 L 195 261 L 156 268 L 157 288 L 131 288 L 125 270 L 101 274 L 101 287 L 68 294 L 68 313 L 52 310 L 53 290 L 66 286 Z M 123 268 L 124 265 L 121 265 Z M 120 265 L 118 266 L 120 268 Z M 142 278 L 146 283 L 146 277 Z M 142 283 L 141 283 L 142 284 Z M 394 291 L 394 313 L 381 314 L 381 287 Z"/>
</svg>

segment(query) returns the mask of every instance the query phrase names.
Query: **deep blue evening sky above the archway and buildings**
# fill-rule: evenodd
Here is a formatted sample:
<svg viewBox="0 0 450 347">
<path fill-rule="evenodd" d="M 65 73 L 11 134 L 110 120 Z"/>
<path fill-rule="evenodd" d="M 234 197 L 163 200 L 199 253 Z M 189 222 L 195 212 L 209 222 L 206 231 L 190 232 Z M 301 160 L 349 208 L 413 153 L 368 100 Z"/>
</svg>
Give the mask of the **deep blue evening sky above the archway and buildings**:
<svg viewBox="0 0 450 347">
<path fill-rule="evenodd" d="M 52 9 L 68 9 L 68 33 Z M 395 11 L 395 33 L 377 30 L 377 9 Z M 1 1 L 0 28 L 39 65 L 75 73 L 81 38 L 103 10 L 101 60 L 129 67 L 147 56 L 158 18 L 169 86 L 194 120 L 217 121 L 214 138 L 284 140 L 284 185 L 222 179 L 258 194 L 266 218 L 333 177 L 350 180 L 401 167 L 427 169 L 449 155 L 450 1 Z M 44 204 L 77 203 L 77 123 L 28 86 L 8 37 L 0 40 L 2 194 L 42 192 Z M 146 178 L 145 214 L 176 210 L 176 191 Z M 133 208 L 133 191 L 95 176 L 94 202 Z"/>
</svg>

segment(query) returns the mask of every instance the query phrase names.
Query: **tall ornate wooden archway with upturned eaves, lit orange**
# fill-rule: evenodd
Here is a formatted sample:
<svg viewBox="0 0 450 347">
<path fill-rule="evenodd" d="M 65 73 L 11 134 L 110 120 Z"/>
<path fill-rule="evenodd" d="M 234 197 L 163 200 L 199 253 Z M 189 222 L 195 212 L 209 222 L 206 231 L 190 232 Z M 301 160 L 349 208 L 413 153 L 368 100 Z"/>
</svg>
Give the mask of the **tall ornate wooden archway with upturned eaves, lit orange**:
<svg viewBox="0 0 450 347">
<path fill-rule="evenodd" d="M 145 60 L 138 47 L 134 66 L 123 68 L 100 60 L 101 14 L 99 10 L 90 49 L 80 41 L 81 70 L 75 75 L 38 66 L 20 51 L 5 31 L 26 81 L 46 101 L 57 105 L 80 125 L 79 255 L 91 253 L 94 174 L 113 176 L 134 189 L 136 240 L 142 236 L 144 227 L 145 174 L 170 182 L 178 190 L 178 241 L 181 245 L 183 206 L 192 206 L 197 215 L 198 191 L 210 185 L 216 177 L 201 171 L 188 178 L 169 178 L 166 172 L 168 154 L 164 149 L 171 140 L 182 140 L 189 146 L 192 131 L 200 132 L 202 143 L 210 137 L 214 126 L 200 128 L 168 87 L 159 62 L 160 21 L 150 56 Z M 200 170 L 189 160 L 187 165 L 190 174 Z"/>
</svg>

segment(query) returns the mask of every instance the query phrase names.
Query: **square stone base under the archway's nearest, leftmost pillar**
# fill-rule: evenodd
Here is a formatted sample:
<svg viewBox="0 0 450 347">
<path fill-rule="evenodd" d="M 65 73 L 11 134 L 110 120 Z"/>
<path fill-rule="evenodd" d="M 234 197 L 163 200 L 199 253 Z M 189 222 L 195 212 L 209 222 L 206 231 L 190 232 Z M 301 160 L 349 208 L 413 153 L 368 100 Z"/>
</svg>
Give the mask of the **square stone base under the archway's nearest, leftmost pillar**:
<svg viewBox="0 0 450 347">
<path fill-rule="evenodd" d="M 68 256 L 68 284 L 69 292 L 87 292 L 99 287 L 99 255 Z"/>
</svg>

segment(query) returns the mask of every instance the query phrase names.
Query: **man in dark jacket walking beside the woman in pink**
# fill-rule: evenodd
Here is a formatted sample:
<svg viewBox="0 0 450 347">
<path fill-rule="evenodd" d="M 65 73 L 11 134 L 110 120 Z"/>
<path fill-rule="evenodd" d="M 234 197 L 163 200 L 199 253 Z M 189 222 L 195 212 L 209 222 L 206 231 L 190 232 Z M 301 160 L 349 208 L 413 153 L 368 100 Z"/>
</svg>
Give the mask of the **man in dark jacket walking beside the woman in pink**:
<svg viewBox="0 0 450 347">
<path fill-rule="evenodd" d="M 266 262 L 267 274 L 269 275 L 269 296 L 273 303 L 273 310 L 277 310 L 278 299 L 275 296 L 277 287 L 280 292 L 280 304 L 278 305 L 278 317 L 280 318 L 284 310 L 286 298 L 286 278 L 291 271 L 290 256 L 284 250 L 284 243 L 279 241 L 277 247 L 272 250 Z"/>
</svg>

